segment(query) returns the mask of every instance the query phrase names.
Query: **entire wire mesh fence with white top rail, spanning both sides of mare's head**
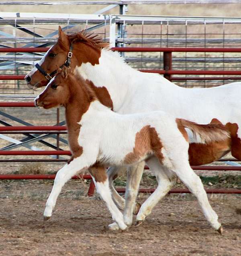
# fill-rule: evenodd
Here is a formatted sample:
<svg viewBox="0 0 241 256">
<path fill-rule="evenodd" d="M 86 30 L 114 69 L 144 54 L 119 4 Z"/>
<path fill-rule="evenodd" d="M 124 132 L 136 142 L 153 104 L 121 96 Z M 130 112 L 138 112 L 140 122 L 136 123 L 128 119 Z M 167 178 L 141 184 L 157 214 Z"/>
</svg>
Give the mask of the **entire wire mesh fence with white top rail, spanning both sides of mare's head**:
<svg viewBox="0 0 241 256">
<path fill-rule="evenodd" d="M 14 17 L 15 16 L 15 17 Z M 241 18 L 157 17 L 102 14 L 0 13 L 0 47 L 47 47 L 57 41 L 58 25 L 66 33 L 88 29 L 120 47 L 239 47 Z M 59 18 L 61 17 L 61 18 Z M 115 29 L 110 32 L 110 21 Z M 113 27 L 113 26 L 112 26 Z M 114 33 L 114 35 L 113 35 Z M 44 53 L 1 53 L 0 75 L 25 75 Z M 163 53 L 123 53 L 137 69 L 163 69 Z M 241 70 L 238 53 L 175 52 L 173 70 Z M 222 79 L 223 77 L 223 79 Z M 239 76 L 172 75 L 185 87 L 211 87 Z M 32 94 L 22 80 L 1 80 L 0 94 Z"/>
</svg>

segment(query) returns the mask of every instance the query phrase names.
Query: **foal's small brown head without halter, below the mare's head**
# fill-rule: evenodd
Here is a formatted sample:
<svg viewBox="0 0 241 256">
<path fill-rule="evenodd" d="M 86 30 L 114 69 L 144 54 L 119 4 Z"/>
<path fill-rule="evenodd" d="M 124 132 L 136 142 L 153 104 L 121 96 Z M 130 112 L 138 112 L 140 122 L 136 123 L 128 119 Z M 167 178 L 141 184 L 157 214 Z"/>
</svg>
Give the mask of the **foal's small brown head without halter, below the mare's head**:
<svg viewBox="0 0 241 256">
<path fill-rule="evenodd" d="M 45 90 L 35 98 L 35 106 L 49 109 L 66 105 L 70 98 L 70 83 L 67 67 L 58 68 L 55 78 L 51 79 Z"/>
</svg>

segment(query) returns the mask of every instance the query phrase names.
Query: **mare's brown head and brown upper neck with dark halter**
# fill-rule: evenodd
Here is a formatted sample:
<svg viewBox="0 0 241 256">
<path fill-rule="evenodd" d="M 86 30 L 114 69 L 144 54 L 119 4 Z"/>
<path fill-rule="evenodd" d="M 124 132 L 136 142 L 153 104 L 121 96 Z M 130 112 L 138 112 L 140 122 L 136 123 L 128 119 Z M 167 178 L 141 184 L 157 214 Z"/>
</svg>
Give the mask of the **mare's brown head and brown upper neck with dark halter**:
<svg viewBox="0 0 241 256">
<path fill-rule="evenodd" d="M 39 88 L 47 85 L 59 67 L 68 66 L 74 70 L 82 63 L 90 62 L 92 65 L 99 63 L 101 48 L 106 47 L 100 38 L 87 32 L 66 35 L 59 27 L 59 38 L 43 56 L 35 68 L 25 76 L 29 87 Z"/>
</svg>

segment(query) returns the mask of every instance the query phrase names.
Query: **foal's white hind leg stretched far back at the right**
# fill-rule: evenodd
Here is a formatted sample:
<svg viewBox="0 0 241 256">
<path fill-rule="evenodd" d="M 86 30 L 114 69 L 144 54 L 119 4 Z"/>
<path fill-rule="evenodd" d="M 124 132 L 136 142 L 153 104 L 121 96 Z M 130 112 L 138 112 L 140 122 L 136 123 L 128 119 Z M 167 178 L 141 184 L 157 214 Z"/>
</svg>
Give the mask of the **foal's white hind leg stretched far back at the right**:
<svg viewBox="0 0 241 256">
<path fill-rule="evenodd" d="M 175 166 L 175 168 L 173 168 L 172 170 L 178 175 L 180 180 L 198 199 L 198 202 L 202 207 L 202 211 L 207 221 L 214 229 L 219 231 L 219 233 L 222 233 L 222 226 L 218 222 L 218 215 L 210 206 L 203 184 L 198 175 L 196 175 L 196 173 L 190 167 L 188 161 L 186 161 L 186 163 L 184 163 L 184 161 L 176 161 L 173 166 Z"/>
</svg>

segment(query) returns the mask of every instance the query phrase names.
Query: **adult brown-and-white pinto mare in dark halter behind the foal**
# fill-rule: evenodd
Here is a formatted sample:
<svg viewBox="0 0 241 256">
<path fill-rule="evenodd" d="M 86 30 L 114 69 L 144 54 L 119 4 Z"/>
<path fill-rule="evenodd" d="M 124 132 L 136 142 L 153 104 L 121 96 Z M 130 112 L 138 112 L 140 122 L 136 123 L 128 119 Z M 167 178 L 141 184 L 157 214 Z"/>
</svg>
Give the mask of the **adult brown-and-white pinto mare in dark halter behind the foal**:
<svg viewBox="0 0 241 256">
<path fill-rule="evenodd" d="M 42 87 L 56 74 L 56 65 L 66 65 L 81 74 L 91 84 L 100 102 L 120 114 L 132 114 L 153 110 L 167 113 L 194 122 L 224 124 L 231 133 L 230 142 L 200 143 L 191 141 L 189 161 L 191 165 L 202 165 L 218 160 L 231 149 L 232 155 L 241 160 L 241 83 L 232 83 L 208 89 L 185 89 L 175 85 L 158 74 L 139 72 L 128 66 L 108 44 L 86 32 L 66 35 L 59 27 L 59 39 L 43 56 L 39 64 L 25 76 L 31 87 Z M 118 147 L 118 145 L 116 145 Z M 175 183 L 175 175 L 157 161 L 149 161 L 155 173 L 158 187 L 141 206 L 137 223 L 144 221 L 153 206 L 165 196 Z M 144 162 L 127 171 L 126 197 L 118 195 L 112 180 L 120 173 L 117 168 L 108 170 L 114 200 L 124 209 L 124 220 L 132 223 L 132 212 Z M 159 168 L 162 168 L 159 171 Z M 133 175 L 135 173 L 135 175 Z"/>
</svg>

